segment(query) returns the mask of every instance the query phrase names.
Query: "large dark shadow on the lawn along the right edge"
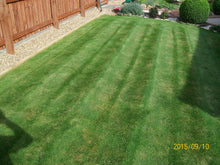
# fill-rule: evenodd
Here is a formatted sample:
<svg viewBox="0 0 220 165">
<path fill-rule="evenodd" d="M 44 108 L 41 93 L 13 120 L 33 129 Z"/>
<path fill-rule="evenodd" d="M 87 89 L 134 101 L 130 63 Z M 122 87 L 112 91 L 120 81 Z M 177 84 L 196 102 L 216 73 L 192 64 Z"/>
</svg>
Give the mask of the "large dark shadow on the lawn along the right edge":
<svg viewBox="0 0 220 165">
<path fill-rule="evenodd" d="M 213 117 L 220 115 L 219 45 L 219 34 L 200 29 L 188 78 L 178 96 L 182 102 L 199 107 Z"/>
</svg>

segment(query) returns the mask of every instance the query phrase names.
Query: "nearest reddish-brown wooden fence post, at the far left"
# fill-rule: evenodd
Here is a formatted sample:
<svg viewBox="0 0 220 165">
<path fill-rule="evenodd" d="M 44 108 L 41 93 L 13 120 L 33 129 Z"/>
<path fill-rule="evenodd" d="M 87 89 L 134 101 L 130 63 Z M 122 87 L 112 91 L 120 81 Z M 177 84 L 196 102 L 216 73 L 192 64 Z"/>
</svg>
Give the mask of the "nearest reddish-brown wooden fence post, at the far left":
<svg viewBox="0 0 220 165">
<path fill-rule="evenodd" d="M 9 13 L 6 5 L 6 0 L 0 1 L 0 24 L 3 31 L 3 37 L 5 40 L 6 51 L 9 54 L 14 54 L 14 43 L 12 29 L 9 23 Z"/>
</svg>

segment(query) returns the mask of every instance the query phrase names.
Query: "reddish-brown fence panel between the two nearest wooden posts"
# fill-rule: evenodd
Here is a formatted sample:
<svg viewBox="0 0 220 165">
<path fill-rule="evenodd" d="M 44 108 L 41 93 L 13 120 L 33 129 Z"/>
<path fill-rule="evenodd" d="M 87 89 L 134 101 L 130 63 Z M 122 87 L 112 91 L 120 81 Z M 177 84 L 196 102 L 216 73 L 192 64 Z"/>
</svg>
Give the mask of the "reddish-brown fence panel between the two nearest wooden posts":
<svg viewBox="0 0 220 165">
<path fill-rule="evenodd" d="M 13 39 L 52 23 L 50 0 L 25 0 L 7 5 Z"/>
</svg>

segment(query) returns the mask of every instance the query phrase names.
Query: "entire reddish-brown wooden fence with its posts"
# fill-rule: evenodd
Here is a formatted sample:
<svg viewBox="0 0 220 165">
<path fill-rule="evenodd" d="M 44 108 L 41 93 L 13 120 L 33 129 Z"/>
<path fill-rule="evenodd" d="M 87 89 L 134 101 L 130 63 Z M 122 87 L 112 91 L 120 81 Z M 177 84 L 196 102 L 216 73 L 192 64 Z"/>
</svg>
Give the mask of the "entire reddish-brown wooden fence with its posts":
<svg viewBox="0 0 220 165">
<path fill-rule="evenodd" d="M 108 0 L 101 0 L 101 4 Z M 98 0 L 0 0 L 0 46 L 14 54 L 14 41 L 59 21 L 99 7 Z"/>
</svg>

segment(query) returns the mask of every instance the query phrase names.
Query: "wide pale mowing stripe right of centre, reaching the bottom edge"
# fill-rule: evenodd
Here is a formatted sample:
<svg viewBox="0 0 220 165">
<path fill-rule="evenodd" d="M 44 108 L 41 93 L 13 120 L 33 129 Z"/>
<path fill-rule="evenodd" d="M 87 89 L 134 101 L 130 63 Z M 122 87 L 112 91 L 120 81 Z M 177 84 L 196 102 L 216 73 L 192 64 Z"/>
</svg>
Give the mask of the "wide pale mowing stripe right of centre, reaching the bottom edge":
<svg viewBox="0 0 220 165">
<path fill-rule="evenodd" d="M 172 59 L 172 36 L 170 27 L 162 25 L 160 37 L 157 40 L 156 58 L 153 62 L 153 70 L 149 87 L 145 91 L 144 107 L 148 109 L 146 115 L 140 123 L 136 125 L 136 136 L 139 136 L 140 145 L 135 149 L 133 164 L 157 164 L 167 154 L 167 143 L 169 143 L 166 132 L 168 114 L 163 109 L 165 99 L 170 101 L 169 93 L 171 86 L 166 83 L 171 76 L 169 64 Z M 169 63 L 169 64 L 168 64 Z M 161 93 L 160 90 L 163 92 Z M 158 104 L 159 103 L 159 104 Z M 158 104 L 158 106 L 157 106 Z M 157 117 L 156 117 L 157 116 Z M 156 120 L 153 120 L 156 117 Z M 135 140 L 134 140 L 135 141 Z M 163 152 L 162 152 L 163 151 Z"/>
</svg>

